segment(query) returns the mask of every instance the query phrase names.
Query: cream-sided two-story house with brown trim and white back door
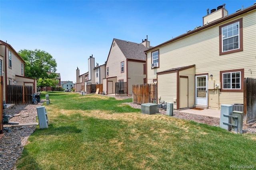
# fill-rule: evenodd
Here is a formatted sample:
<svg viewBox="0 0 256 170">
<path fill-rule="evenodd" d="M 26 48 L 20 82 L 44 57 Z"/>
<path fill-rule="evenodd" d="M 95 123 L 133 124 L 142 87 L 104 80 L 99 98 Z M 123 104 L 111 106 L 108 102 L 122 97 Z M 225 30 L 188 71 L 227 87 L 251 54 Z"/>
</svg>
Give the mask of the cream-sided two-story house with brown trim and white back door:
<svg viewBox="0 0 256 170">
<path fill-rule="evenodd" d="M 147 83 L 174 109 L 243 104 L 243 79 L 256 78 L 256 4 L 207 11 L 203 26 L 145 52 Z"/>
</svg>

